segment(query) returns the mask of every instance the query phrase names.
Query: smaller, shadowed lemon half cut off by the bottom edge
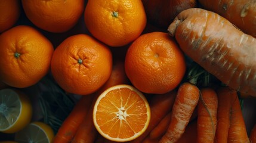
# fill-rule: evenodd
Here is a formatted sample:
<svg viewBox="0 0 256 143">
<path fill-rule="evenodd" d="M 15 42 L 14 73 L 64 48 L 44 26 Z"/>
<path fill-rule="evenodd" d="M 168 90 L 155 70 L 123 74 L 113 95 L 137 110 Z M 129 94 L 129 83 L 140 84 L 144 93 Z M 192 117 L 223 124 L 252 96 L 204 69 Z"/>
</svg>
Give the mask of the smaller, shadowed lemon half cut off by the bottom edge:
<svg viewBox="0 0 256 143">
<path fill-rule="evenodd" d="M 50 143 L 53 142 L 54 132 L 51 126 L 43 122 L 32 122 L 26 128 L 15 134 L 14 140 L 19 143 Z"/>
</svg>

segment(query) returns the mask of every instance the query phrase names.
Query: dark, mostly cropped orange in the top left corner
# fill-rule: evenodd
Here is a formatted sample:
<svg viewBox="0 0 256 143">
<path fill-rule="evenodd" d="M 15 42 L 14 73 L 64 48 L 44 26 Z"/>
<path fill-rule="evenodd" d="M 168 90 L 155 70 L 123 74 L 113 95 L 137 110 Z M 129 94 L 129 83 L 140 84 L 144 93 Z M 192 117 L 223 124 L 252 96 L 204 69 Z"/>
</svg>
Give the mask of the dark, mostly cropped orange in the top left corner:
<svg viewBox="0 0 256 143">
<path fill-rule="evenodd" d="M 10 29 L 20 17 L 20 1 L 0 1 L 0 33 Z"/>
</svg>

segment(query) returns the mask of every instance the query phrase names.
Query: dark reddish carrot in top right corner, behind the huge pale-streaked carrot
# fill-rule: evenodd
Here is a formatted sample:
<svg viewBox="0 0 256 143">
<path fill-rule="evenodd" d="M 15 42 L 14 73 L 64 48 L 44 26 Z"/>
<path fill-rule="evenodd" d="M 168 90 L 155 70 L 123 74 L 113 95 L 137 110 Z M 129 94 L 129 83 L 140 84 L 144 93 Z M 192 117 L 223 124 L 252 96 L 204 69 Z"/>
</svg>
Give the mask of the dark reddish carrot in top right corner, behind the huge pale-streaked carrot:
<svg viewBox="0 0 256 143">
<path fill-rule="evenodd" d="M 256 1 L 254 0 L 199 0 L 210 11 L 220 14 L 243 32 L 256 37 Z"/>
</svg>

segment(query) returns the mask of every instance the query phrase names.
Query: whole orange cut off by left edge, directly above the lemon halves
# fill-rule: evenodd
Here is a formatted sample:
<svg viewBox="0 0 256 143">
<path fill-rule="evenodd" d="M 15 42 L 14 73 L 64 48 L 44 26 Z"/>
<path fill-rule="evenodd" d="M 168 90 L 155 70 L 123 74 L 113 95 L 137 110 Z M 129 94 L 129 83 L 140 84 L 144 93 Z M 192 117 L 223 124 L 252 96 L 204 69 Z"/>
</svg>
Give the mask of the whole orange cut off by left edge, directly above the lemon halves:
<svg viewBox="0 0 256 143">
<path fill-rule="evenodd" d="M 16 26 L 0 35 L 0 79 L 17 88 L 32 86 L 44 77 L 53 45 L 30 26 Z"/>
</svg>

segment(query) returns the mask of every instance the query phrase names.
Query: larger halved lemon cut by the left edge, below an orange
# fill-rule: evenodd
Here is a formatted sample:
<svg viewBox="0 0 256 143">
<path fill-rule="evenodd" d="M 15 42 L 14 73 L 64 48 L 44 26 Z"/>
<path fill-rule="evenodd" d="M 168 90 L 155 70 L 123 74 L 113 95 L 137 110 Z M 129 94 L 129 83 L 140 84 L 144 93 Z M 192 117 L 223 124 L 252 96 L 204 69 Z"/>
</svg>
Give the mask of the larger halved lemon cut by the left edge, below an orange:
<svg viewBox="0 0 256 143">
<path fill-rule="evenodd" d="M 0 132 L 14 133 L 32 118 L 32 103 L 27 95 L 14 89 L 0 90 Z"/>
</svg>

